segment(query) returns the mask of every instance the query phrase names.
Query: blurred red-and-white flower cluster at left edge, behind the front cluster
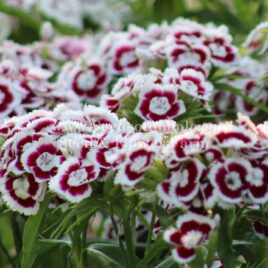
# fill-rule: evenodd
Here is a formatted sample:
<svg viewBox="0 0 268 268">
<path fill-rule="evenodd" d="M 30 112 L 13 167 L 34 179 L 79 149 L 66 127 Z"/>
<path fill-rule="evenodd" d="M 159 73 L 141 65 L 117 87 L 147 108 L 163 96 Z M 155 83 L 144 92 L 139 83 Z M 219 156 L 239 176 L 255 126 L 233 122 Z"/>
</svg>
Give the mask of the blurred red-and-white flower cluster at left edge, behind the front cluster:
<svg viewBox="0 0 268 268">
<path fill-rule="evenodd" d="M 11 60 L 4 60 L 0 63 L 0 74 L 0 118 L 38 108 L 49 109 L 57 102 L 80 107 L 77 97 L 50 83 L 52 73 L 42 68 L 19 67 Z"/>
</svg>

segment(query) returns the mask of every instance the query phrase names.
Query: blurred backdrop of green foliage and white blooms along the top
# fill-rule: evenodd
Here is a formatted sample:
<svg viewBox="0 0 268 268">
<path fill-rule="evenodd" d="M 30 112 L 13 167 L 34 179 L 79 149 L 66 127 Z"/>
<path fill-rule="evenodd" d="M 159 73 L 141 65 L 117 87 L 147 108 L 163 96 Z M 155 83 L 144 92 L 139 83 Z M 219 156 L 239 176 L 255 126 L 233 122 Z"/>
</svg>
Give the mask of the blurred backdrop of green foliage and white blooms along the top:
<svg viewBox="0 0 268 268">
<path fill-rule="evenodd" d="M 59 33 L 82 35 L 98 30 L 124 29 L 129 23 L 186 17 L 201 23 L 226 24 L 236 42 L 268 17 L 267 0 L 0 0 L 0 41 L 20 43 L 39 39 L 44 21 Z"/>
</svg>

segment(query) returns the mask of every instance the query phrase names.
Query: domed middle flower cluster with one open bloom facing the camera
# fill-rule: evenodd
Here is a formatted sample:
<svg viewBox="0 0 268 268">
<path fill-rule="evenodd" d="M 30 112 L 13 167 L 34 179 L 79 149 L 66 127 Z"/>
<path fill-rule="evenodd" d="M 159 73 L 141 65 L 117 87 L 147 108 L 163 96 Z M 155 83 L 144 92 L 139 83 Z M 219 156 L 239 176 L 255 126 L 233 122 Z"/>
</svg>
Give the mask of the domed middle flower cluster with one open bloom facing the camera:
<svg viewBox="0 0 268 268">
<path fill-rule="evenodd" d="M 213 86 L 202 72 L 184 69 L 180 73 L 174 68 L 165 72 L 150 69 L 145 75 L 132 74 L 118 80 L 110 94 L 103 95 L 101 105 L 118 111 L 127 98 L 138 102 L 134 113 L 144 120 L 174 119 L 186 112 L 183 94 L 200 103 L 209 100 Z"/>
</svg>

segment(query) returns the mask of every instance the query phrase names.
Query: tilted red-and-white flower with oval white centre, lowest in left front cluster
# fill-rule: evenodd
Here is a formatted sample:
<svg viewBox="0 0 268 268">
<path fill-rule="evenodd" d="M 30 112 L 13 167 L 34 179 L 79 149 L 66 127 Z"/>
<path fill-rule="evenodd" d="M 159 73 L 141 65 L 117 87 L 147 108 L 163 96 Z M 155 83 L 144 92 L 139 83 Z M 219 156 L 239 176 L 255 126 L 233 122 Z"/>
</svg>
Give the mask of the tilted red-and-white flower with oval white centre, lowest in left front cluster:
<svg viewBox="0 0 268 268">
<path fill-rule="evenodd" d="M 90 183 L 99 175 L 99 168 L 93 163 L 82 165 L 75 158 L 63 162 L 58 173 L 50 180 L 49 188 L 62 198 L 77 203 L 91 194 Z"/>
</svg>

